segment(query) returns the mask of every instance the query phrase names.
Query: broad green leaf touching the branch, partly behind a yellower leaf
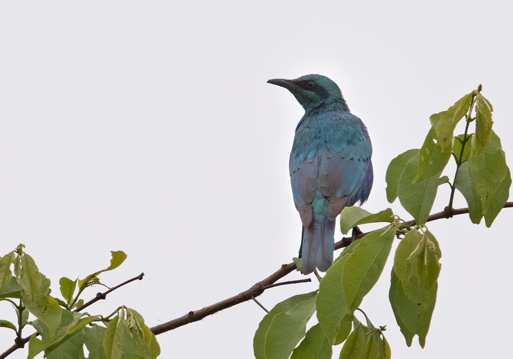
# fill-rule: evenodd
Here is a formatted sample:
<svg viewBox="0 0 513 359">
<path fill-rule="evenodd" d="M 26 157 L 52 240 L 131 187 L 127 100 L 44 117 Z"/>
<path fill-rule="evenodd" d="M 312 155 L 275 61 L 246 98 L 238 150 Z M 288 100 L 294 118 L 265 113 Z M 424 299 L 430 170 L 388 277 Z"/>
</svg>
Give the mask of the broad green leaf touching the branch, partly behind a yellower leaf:
<svg viewBox="0 0 513 359">
<path fill-rule="evenodd" d="M 417 224 L 424 224 L 435 202 L 441 172 L 414 184 L 418 165 L 419 156 L 413 156 L 403 167 L 398 195 L 401 205 L 415 218 Z"/>
</svg>

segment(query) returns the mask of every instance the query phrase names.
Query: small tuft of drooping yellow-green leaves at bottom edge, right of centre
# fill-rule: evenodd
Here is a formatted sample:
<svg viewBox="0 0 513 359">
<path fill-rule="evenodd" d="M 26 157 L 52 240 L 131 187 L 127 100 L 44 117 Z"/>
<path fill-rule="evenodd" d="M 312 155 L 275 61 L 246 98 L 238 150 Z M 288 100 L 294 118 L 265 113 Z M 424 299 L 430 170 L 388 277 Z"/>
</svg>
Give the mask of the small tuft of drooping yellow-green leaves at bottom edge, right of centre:
<svg viewBox="0 0 513 359">
<path fill-rule="evenodd" d="M 354 321 L 354 330 L 349 334 L 340 358 L 342 359 L 390 359 L 391 351 L 388 342 L 378 329 L 371 323 L 364 326 Z"/>
</svg>

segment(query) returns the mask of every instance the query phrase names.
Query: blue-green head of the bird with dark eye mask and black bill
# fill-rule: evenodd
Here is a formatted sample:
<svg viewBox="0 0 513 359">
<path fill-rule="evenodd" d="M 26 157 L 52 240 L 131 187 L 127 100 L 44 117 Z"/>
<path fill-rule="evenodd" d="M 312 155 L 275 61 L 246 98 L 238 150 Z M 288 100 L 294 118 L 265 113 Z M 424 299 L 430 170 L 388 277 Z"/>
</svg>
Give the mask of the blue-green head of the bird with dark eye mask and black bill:
<svg viewBox="0 0 513 359">
<path fill-rule="evenodd" d="M 311 74 L 292 80 L 273 78 L 267 82 L 284 87 L 292 92 L 306 112 L 331 104 L 340 104 L 341 108 L 347 109 L 340 88 L 326 76 Z"/>
</svg>

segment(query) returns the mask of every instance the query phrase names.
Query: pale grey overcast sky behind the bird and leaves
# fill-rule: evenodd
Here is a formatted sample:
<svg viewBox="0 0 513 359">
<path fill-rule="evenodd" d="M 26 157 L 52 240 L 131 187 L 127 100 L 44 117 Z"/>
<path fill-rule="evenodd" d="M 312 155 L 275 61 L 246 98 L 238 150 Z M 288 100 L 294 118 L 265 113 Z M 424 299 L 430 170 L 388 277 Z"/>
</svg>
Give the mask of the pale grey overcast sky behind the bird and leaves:
<svg viewBox="0 0 513 359">
<path fill-rule="evenodd" d="M 372 138 L 368 211 L 410 219 L 386 201 L 388 163 L 420 148 L 429 115 L 480 83 L 511 166 L 513 3 L 320 3 L 2 2 L 0 255 L 24 243 L 56 295 L 61 276 L 83 278 L 124 250 L 104 282 L 144 280 L 88 311 L 125 304 L 149 326 L 291 262 L 301 221 L 288 157 L 303 111 L 269 78 L 320 73 L 339 84 Z M 433 211 L 448 193 L 441 188 Z M 424 349 L 417 337 L 407 348 L 394 320 L 389 258 L 361 307 L 387 325 L 393 358 L 511 355 L 512 218 L 504 210 L 491 229 L 466 215 L 429 224 L 443 266 Z M 259 300 L 272 308 L 316 286 Z M 0 303 L 1 318 L 11 311 Z M 252 357 L 264 314 L 248 302 L 161 334 L 161 357 Z M 11 344 L 0 329 L 0 352 Z"/>
</svg>

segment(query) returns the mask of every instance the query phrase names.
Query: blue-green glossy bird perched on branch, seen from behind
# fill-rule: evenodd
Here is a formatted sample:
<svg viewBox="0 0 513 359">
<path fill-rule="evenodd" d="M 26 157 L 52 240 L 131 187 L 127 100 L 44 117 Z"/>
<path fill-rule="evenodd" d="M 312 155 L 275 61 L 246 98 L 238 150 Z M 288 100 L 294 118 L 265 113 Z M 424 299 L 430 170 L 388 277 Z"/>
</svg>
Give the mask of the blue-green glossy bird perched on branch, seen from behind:
<svg viewBox="0 0 513 359">
<path fill-rule="evenodd" d="M 344 207 L 363 204 L 373 182 L 372 144 L 339 86 L 326 76 L 273 78 L 305 110 L 295 128 L 289 160 L 295 208 L 303 224 L 303 274 L 325 272 L 333 262 L 335 219 Z"/>
</svg>

